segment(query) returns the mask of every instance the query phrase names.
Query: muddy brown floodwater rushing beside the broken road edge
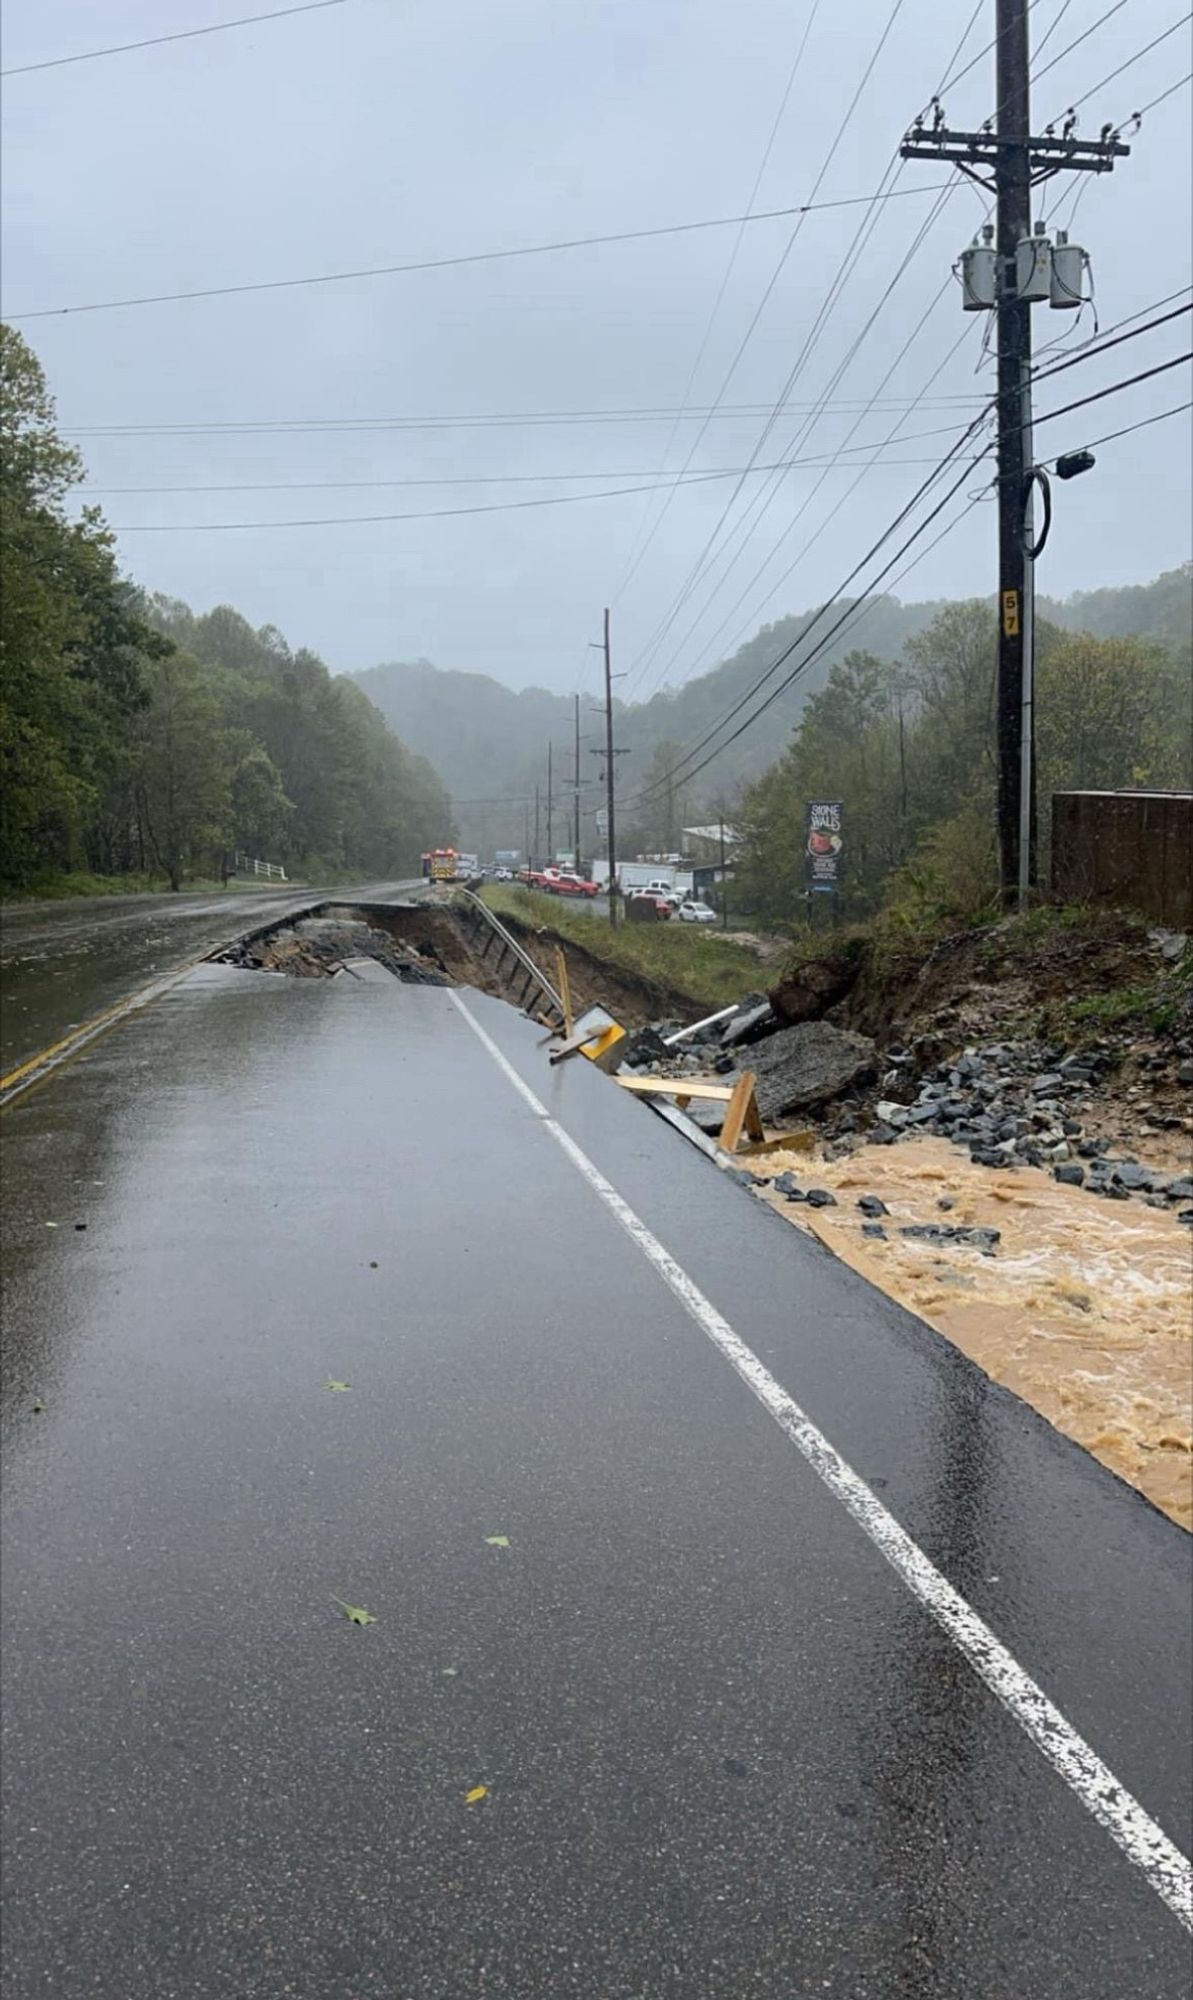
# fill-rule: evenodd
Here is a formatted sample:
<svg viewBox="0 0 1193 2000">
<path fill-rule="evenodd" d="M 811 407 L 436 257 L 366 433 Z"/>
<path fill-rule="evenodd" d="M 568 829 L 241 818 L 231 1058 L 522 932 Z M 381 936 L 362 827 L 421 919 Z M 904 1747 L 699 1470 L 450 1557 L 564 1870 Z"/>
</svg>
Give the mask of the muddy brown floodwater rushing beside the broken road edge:
<svg viewBox="0 0 1193 2000">
<path fill-rule="evenodd" d="M 1193 1244 L 1173 1212 L 973 1166 L 941 1138 L 753 1164 L 831 1188 L 839 1208 L 763 1198 L 1193 1528 Z M 887 1242 L 861 1234 L 859 1194 L 887 1202 Z M 1003 1240 L 995 1256 L 909 1242 L 909 1222 L 993 1224 Z"/>
</svg>

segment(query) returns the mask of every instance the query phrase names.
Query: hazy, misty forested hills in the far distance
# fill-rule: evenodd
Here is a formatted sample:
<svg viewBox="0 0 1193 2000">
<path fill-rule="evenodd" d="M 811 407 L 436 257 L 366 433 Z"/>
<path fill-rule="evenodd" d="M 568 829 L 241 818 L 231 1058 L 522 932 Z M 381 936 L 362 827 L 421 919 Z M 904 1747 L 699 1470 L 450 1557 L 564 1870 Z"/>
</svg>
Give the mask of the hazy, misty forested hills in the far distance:
<svg viewBox="0 0 1193 2000">
<path fill-rule="evenodd" d="M 825 628 L 847 608 L 849 600 L 843 600 L 831 618 L 813 626 L 807 644 L 793 652 L 789 664 L 795 664 L 801 652 L 811 652 Z M 619 784 L 627 798 L 651 794 L 643 806 L 627 810 L 627 838 L 641 836 L 647 844 L 671 846 L 669 830 L 683 824 L 685 816 L 705 820 L 719 802 L 729 810 L 743 784 L 759 780 L 781 754 L 807 704 L 827 686 L 835 666 L 859 648 L 877 660 L 899 662 L 949 610 L 955 606 L 899 604 L 889 596 L 859 600 L 859 616 L 817 654 L 807 674 L 767 710 L 757 728 L 747 730 L 687 788 L 665 782 L 683 748 L 695 744 L 729 714 L 809 626 L 813 614 L 793 612 L 763 626 L 731 660 L 681 688 L 667 688 L 631 706 L 615 704 L 617 740 L 631 752 L 619 768 Z M 1041 598 L 1039 616 L 1041 622 L 1089 632 L 1095 638 L 1137 636 L 1161 644 L 1179 664 L 1189 658 L 1191 646 L 1191 572 L 1171 570 L 1151 584 L 1083 592 L 1065 600 Z M 566 694 L 550 694 L 544 688 L 514 692 L 486 674 L 442 670 L 428 660 L 376 666 L 356 680 L 390 722 L 400 722 L 406 740 L 434 762 L 452 798 L 464 802 L 458 806 L 458 820 L 468 846 L 520 846 L 522 800 L 532 796 L 536 784 L 540 788 L 546 784 L 548 742 L 554 744 L 556 784 L 562 788 L 570 784 L 574 712 Z M 586 686 L 582 730 L 586 744 L 596 744 L 594 672 Z M 596 776 L 586 746 L 582 772 L 588 784 Z M 516 804 L 504 810 L 490 804 L 500 796 Z M 472 808 L 470 800 L 484 804 Z M 596 792 L 590 790 L 588 804 L 596 802 Z M 588 816 L 588 828 L 590 824 Z"/>
</svg>

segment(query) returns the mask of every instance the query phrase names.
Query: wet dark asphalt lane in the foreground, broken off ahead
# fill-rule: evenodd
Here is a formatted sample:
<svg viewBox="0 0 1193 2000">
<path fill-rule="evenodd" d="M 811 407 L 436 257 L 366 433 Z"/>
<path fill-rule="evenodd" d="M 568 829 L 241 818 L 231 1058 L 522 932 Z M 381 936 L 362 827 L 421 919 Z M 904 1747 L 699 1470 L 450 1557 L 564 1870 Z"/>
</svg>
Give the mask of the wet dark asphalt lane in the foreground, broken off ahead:
<svg viewBox="0 0 1193 2000">
<path fill-rule="evenodd" d="M 466 1006 L 1185 1844 L 1181 1530 Z M 1147 1872 L 450 992 L 204 966 L 4 1154 L 18 2000 L 1187 2000 Z"/>
</svg>

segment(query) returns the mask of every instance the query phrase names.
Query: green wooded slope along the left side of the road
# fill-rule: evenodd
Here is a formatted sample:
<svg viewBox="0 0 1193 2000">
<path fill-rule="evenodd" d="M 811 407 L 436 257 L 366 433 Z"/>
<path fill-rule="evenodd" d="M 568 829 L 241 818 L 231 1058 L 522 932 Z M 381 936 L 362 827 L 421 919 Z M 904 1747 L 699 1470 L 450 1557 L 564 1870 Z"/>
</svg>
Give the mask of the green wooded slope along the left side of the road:
<svg viewBox="0 0 1193 2000">
<path fill-rule="evenodd" d="M 216 874 L 242 848 L 296 874 L 404 874 L 450 834 L 442 782 L 350 680 L 238 612 L 202 618 L 118 576 L 54 430 L 42 370 L 0 328 L 0 884 Z"/>
</svg>

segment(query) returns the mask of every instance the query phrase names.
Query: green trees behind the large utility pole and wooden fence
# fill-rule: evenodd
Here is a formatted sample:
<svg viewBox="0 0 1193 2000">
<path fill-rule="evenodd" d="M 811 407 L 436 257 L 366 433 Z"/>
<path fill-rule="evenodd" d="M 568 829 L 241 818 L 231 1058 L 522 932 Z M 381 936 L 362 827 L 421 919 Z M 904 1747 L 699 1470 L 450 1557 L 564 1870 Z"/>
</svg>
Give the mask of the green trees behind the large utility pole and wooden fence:
<svg viewBox="0 0 1193 2000">
<path fill-rule="evenodd" d="M 805 808 L 831 798 L 843 804 L 845 914 L 893 904 L 913 924 L 975 916 L 997 880 L 995 672 L 997 624 L 983 600 L 945 606 L 901 660 L 851 652 L 835 666 L 783 756 L 741 798 L 743 906 L 763 922 L 801 918 Z M 1047 882 L 1053 792 L 1193 782 L 1189 648 L 1039 620 L 1035 702 Z"/>
</svg>

